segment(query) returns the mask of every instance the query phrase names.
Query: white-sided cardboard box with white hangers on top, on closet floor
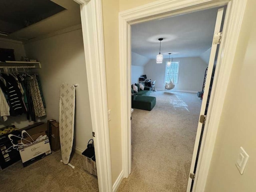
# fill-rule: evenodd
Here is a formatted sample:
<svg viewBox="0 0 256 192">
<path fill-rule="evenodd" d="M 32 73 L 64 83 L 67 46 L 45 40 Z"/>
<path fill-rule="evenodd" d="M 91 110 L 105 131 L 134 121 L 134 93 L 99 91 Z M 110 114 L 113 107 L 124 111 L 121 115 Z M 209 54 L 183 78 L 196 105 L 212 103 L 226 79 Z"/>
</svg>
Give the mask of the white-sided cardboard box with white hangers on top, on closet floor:
<svg viewBox="0 0 256 192">
<path fill-rule="evenodd" d="M 45 135 L 45 132 L 41 132 L 35 135 L 32 135 L 32 139 L 36 140 L 38 136 Z M 31 138 L 27 137 L 26 140 L 31 140 Z M 24 144 L 26 141 L 22 141 Z M 22 160 L 22 164 L 24 167 L 32 164 L 35 161 L 38 161 L 50 154 L 52 154 L 49 139 L 41 140 L 40 142 L 31 144 L 19 150 L 20 157 Z"/>
</svg>

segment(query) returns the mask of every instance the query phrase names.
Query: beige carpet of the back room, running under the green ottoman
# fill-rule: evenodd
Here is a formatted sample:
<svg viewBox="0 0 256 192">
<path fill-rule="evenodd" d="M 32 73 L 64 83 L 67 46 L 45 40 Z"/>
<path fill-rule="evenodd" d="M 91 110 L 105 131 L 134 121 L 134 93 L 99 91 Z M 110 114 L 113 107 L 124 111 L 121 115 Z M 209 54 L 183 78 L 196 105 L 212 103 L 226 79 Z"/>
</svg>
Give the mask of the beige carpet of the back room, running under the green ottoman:
<svg viewBox="0 0 256 192">
<path fill-rule="evenodd" d="M 200 114 L 196 94 L 157 91 L 132 113 L 132 172 L 118 192 L 185 192 Z"/>
</svg>

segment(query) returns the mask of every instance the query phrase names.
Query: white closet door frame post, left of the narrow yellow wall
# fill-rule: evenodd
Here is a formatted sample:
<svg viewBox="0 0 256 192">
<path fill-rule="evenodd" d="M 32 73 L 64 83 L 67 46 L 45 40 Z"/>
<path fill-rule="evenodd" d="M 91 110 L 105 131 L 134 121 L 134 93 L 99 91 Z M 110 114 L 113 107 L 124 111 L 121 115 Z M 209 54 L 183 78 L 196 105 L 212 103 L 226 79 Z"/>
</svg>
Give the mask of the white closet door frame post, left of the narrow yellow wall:
<svg viewBox="0 0 256 192">
<path fill-rule="evenodd" d="M 112 192 L 102 3 L 74 1 L 80 4 L 98 186 L 100 192 Z"/>
</svg>

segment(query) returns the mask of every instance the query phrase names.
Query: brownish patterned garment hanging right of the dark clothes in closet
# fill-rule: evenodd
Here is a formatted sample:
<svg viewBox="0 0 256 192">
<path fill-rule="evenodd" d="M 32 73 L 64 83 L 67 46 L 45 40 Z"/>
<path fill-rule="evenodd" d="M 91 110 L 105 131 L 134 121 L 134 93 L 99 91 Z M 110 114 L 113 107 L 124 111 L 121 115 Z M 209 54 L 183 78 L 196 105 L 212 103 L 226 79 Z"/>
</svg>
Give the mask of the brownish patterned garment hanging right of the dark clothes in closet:
<svg viewBox="0 0 256 192">
<path fill-rule="evenodd" d="M 42 117 L 46 115 L 44 104 L 42 101 L 39 86 L 36 80 L 36 75 L 31 75 L 33 79 L 28 80 L 28 85 L 30 88 L 30 95 L 33 100 L 34 113 L 36 117 Z"/>
</svg>

